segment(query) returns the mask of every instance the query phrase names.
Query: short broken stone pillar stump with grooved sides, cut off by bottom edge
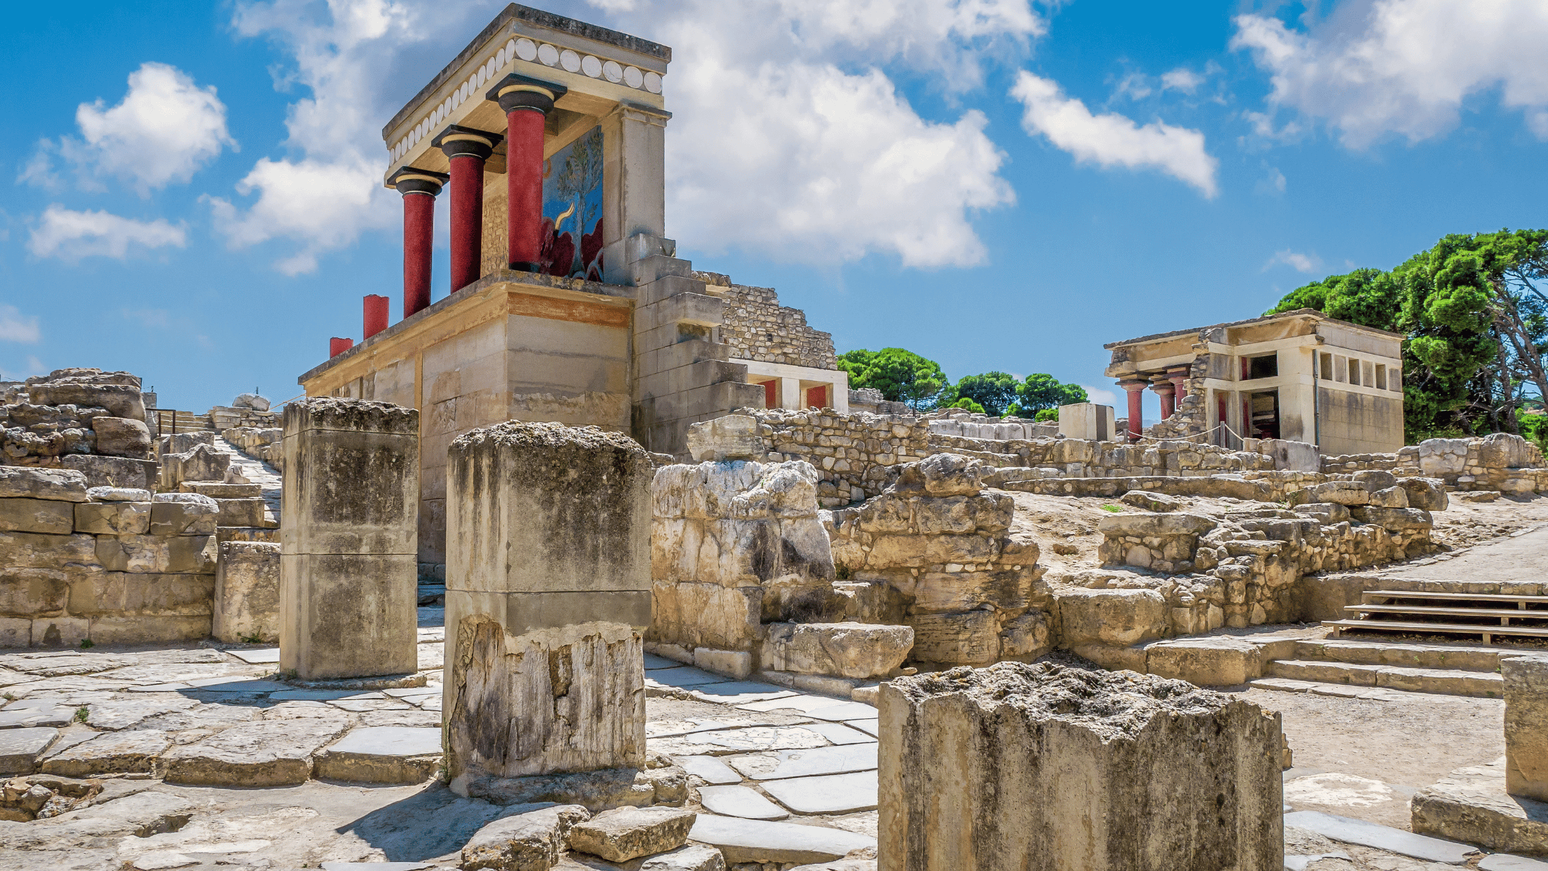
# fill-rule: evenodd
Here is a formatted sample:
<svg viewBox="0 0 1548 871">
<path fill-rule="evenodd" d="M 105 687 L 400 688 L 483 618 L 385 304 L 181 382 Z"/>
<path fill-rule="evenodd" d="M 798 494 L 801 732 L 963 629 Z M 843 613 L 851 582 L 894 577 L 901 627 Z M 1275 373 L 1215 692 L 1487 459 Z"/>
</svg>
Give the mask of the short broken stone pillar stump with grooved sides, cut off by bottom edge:
<svg viewBox="0 0 1548 871">
<path fill-rule="evenodd" d="M 1279 714 L 1133 671 L 881 685 L 879 871 L 1280 871 Z"/>
</svg>

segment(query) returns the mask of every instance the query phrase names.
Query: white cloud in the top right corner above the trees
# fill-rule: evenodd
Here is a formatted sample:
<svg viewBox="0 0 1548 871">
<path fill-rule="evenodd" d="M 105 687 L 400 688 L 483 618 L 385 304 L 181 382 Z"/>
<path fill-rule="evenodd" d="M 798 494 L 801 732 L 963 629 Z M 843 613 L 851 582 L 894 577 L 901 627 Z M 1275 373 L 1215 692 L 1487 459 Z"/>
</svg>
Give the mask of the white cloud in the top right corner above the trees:
<svg viewBox="0 0 1548 871">
<path fill-rule="evenodd" d="M 1235 25 L 1231 46 L 1272 74 L 1269 104 L 1325 119 L 1348 147 L 1441 135 L 1469 96 L 1492 88 L 1548 139 L 1542 0 L 1376 0 L 1341 8 L 1311 33 L 1252 14 Z"/>
</svg>

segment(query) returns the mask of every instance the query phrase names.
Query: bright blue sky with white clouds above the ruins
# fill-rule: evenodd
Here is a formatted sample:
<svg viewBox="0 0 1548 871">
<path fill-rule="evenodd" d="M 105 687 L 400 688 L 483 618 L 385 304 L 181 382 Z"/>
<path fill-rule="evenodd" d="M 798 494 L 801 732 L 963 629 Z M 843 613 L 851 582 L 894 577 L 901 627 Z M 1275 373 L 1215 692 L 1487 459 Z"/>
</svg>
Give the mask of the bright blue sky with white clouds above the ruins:
<svg viewBox="0 0 1548 871">
<path fill-rule="evenodd" d="M 680 256 L 952 378 L 1110 391 L 1102 343 L 1545 225 L 1540 0 L 537 5 L 673 46 Z M 0 374 L 300 392 L 362 294 L 401 316 L 379 130 L 500 6 L 12 11 Z"/>
</svg>

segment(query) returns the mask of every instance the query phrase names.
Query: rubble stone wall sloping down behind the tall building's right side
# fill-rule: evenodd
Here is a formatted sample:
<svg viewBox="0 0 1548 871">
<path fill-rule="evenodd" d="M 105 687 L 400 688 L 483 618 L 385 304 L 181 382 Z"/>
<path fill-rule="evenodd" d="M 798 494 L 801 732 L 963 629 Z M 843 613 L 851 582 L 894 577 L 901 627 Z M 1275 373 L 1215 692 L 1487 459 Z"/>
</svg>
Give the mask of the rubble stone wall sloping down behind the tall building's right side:
<svg viewBox="0 0 1548 871">
<path fill-rule="evenodd" d="M 807 313 L 780 305 L 774 288 L 731 284 L 718 273 L 695 271 L 694 277 L 726 301 L 720 341 L 731 347 L 732 360 L 837 369 L 833 333 L 808 327 Z"/>
</svg>

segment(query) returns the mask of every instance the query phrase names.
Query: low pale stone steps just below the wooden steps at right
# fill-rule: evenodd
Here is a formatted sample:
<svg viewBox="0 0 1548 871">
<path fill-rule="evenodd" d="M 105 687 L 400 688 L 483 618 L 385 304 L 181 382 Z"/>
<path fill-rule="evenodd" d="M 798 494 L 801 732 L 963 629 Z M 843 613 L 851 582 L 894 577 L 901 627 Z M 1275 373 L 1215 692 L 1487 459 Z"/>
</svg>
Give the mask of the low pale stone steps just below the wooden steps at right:
<svg viewBox="0 0 1548 871">
<path fill-rule="evenodd" d="M 1297 640 L 1276 651 L 1283 659 L 1263 663 L 1252 687 L 1324 694 L 1379 697 L 1381 691 L 1438 693 L 1444 696 L 1502 697 L 1500 654 L 1512 648 L 1381 642 L 1353 639 Z M 1288 656 L 1285 656 L 1288 652 Z"/>
</svg>

